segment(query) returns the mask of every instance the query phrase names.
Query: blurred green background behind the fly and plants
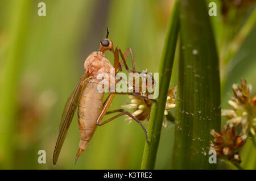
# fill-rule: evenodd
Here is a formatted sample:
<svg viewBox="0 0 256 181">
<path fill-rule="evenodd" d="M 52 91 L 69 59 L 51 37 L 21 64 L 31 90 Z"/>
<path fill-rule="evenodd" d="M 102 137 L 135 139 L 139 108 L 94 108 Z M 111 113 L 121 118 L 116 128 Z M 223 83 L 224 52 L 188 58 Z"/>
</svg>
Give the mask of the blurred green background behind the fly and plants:
<svg viewBox="0 0 256 181">
<path fill-rule="evenodd" d="M 46 16 L 38 16 L 39 2 L 46 3 Z M 217 3 L 217 16 L 211 20 L 220 54 L 222 108 L 227 108 L 228 92 L 240 77 L 256 93 L 255 1 L 209 2 Z M 75 166 L 75 113 L 56 166 L 52 154 L 65 101 L 84 73 L 85 58 L 106 36 L 106 27 L 114 46 L 133 49 L 137 70 L 158 72 L 173 3 L 0 0 L 0 169 L 139 169 L 144 133 L 137 123 L 125 122 L 125 116 L 99 127 Z M 106 54 L 113 63 L 112 54 Z M 176 85 L 176 66 L 171 87 Z M 110 110 L 126 102 L 126 95 L 116 95 Z M 171 169 L 173 137 L 174 125 L 168 123 L 155 169 Z M 38 163 L 38 150 L 46 150 L 46 164 Z M 242 166 L 255 169 L 250 141 L 242 151 Z M 220 168 L 229 167 L 221 163 Z"/>
</svg>

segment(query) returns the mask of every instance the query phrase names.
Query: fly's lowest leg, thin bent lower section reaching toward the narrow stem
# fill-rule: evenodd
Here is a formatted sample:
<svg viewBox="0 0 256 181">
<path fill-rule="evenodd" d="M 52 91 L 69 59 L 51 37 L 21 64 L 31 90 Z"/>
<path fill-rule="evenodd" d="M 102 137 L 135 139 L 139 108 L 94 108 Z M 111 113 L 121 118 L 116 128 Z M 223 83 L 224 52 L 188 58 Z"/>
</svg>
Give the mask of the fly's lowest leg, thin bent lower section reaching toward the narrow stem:
<svg viewBox="0 0 256 181">
<path fill-rule="evenodd" d="M 143 125 L 141 124 L 141 122 L 136 118 L 134 117 L 130 112 L 128 111 L 125 111 L 123 109 L 120 109 L 120 110 L 114 110 L 114 111 L 109 111 L 109 112 L 106 112 L 105 114 L 110 114 L 110 113 L 115 113 L 115 112 L 120 112 L 118 113 L 118 115 L 115 115 L 113 117 L 111 117 L 110 119 L 107 119 L 105 121 L 103 121 L 102 123 L 96 123 L 98 126 L 101 126 L 101 125 L 104 125 L 106 123 L 109 123 L 110 121 L 116 119 L 117 117 L 119 116 L 122 116 L 122 115 L 128 115 L 129 117 L 131 117 L 133 120 L 135 120 L 143 129 L 144 133 L 145 133 L 145 136 L 146 136 L 146 141 L 148 142 L 148 137 L 147 137 L 147 131 L 146 129 L 143 127 Z"/>
</svg>

